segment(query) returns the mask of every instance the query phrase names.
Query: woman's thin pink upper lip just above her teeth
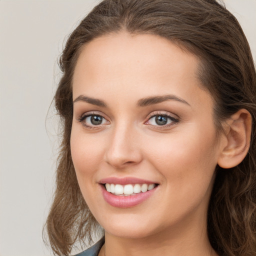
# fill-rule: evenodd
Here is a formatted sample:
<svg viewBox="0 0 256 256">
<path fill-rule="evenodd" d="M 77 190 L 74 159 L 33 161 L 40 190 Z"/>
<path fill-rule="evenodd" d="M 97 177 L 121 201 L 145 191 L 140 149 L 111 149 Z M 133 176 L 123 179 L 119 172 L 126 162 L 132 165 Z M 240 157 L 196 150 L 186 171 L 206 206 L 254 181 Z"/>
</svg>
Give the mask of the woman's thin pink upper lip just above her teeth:
<svg viewBox="0 0 256 256">
<path fill-rule="evenodd" d="M 147 179 L 141 179 L 137 177 L 107 177 L 102 178 L 99 180 L 99 183 L 105 184 L 157 184 L 155 181 L 147 180 Z"/>
</svg>

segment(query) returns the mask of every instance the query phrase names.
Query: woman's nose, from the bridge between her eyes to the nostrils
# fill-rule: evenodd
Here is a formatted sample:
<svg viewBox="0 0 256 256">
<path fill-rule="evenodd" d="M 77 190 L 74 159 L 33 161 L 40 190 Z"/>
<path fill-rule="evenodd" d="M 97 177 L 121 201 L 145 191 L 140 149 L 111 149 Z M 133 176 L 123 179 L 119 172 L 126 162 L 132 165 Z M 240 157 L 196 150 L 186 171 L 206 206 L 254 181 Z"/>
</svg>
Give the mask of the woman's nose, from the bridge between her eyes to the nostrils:
<svg viewBox="0 0 256 256">
<path fill-rule="evenodd" d="M 118 169 L 138 164 L 142 160 L 139 142 L 139 134 L 135 128 L 132 129 L 125 123 L 116 126 L 109 136 L 105 161 Z"/>
</svg>

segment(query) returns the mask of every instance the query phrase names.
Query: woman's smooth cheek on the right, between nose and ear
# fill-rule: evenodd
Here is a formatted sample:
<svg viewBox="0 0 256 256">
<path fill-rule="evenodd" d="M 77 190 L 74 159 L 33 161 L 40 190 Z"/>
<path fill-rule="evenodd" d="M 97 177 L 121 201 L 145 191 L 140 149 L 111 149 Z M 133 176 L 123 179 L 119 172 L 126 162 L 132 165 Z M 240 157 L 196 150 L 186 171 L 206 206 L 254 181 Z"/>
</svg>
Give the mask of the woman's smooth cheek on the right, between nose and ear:
<svg viewBox="0 0 256 256">
<path fill-rule="evenodd" d="M 174 193 L 187 195 L 189 190 L 208 188 L 217 164 L 212 128 L 191 126 L 186 132 L 171 134 L 153 144 L 147 147 L 150 150 L 148 159 Z"/>
</svg>

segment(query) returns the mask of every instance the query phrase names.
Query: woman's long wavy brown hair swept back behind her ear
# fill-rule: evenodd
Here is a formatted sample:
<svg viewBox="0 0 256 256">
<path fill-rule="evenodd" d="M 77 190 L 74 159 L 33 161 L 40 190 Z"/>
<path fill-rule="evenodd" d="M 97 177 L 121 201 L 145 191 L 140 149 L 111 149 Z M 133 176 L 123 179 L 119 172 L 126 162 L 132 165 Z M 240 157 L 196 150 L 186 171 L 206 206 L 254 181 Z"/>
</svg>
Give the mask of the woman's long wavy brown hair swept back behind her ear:
<svg viewBox="0 0 256 256">
<path fill-rule="evenodd" d="M 70 155 L 72 75 L 81 47 L 94 38 L 126 30 L 165 37 L 201 60 L 199 78 L 214 98 L 216 129 L 241 108 L 252 116 L 248 154 L 230 169 L 216 167 L 207 230 L 223 256 L 256 254 L 256 74 L 248 42 L 236 18 L 216 0 L 103 0 L 70 34 L 54 97 L 62 123 L 56 189 L 46 221 L 53 252 L 68 255 L 75 241 L 91 240 L 97 222 L 78 187 Z"/>
</svg>

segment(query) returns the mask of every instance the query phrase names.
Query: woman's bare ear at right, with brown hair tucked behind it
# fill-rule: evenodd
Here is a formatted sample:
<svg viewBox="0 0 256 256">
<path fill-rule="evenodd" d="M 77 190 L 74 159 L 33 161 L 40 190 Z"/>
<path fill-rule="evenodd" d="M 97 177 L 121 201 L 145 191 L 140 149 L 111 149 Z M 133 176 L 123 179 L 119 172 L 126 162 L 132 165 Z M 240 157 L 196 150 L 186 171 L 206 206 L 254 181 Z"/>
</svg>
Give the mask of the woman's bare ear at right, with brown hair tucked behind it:
<svg viewBox="0 0 256 256">
<path fill-rule="evenodd" d="M 248 152 L 251 134 L 251 115 L 246 109 L 232 114 L 224 124 L 224 145 L 218 165 L 231 168 L 238 165 Z"/>
</svg>

